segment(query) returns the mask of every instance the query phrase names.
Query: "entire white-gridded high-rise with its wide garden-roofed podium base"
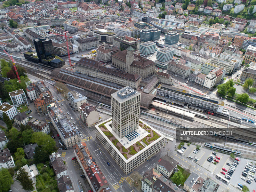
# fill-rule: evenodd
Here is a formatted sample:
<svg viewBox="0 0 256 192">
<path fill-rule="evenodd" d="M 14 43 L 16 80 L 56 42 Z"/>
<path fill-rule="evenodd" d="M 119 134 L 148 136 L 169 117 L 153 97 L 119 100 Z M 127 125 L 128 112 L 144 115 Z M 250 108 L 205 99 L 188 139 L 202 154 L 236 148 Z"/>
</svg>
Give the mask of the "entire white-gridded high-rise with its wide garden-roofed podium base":
<svg viewBox="0 0 256 192">
<path fill-rule="evenodd" d="M 112 118 L 95 125 L 95 135 L 128 174 L 160 151 L 164 136 L 139 119 L 140 93 L 129 86 L 111 94 L 111 106 Z"/>
</svg>

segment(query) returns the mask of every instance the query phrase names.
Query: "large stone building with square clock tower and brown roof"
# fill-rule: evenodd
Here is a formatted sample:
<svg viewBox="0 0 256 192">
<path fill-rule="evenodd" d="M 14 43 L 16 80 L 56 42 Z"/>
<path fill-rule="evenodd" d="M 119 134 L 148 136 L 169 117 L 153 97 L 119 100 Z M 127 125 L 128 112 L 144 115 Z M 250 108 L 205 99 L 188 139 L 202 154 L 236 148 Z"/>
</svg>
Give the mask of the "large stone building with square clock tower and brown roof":
<svg viewBox="0 0 256 192">
<path fill-rule="evenodd" d="M 112 56 L 112 65 L 122 71 L 146 78 L 155 73 L 155 62 L 135 55 L 132 47 Z"/>
</svg>

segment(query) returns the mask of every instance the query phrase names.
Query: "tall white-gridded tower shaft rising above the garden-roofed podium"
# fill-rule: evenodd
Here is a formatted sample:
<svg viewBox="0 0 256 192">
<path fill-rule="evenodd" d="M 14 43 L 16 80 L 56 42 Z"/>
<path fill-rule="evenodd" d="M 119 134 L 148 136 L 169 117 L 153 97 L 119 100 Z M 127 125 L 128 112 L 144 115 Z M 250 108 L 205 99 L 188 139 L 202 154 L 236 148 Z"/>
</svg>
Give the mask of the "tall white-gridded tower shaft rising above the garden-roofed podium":
<svg viewBox="0 0 256 192">
<path fill-rule="evenodd" d="M 140 116 L 140 92 L 124 87 L 111 94 L 112 129 L 123 138 L 138 129 Z"/>
</svg>

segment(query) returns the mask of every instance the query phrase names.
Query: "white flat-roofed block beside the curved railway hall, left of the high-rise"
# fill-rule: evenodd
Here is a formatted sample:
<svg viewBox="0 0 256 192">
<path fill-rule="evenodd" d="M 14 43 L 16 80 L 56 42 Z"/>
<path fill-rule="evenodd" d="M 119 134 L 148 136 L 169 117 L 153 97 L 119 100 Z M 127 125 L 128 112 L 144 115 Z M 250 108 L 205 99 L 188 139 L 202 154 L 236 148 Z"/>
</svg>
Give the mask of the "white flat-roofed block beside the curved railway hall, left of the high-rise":
<svg viewBox="0 0 256 192">
<path fill-rule="evenodd" d="M 68 92 L 68 100 L 76 111 L 78 111 L 79 107 L 81 107 L 83 103 L 87 103 L 87 97 L 76 91 Z"/>
</svg>

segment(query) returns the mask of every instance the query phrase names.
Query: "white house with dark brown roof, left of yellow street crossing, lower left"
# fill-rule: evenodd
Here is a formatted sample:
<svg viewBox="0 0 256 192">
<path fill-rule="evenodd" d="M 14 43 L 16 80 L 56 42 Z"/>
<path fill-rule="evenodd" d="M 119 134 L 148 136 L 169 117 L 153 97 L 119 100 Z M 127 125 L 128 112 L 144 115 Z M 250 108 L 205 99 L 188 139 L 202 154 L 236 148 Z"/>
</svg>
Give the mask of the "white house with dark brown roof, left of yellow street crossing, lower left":
<svg viewBox="0 0 256 192">
<path fill-rule="evenodd" d="M 49 155 L 50 164 L 54 173 L 57 175 L 57 178 L 60 179 L 61 176 L 68 175 L 67 168 L 61 159 L 59 152 L 54 152 L 52 155 Z"/>
</svg>

